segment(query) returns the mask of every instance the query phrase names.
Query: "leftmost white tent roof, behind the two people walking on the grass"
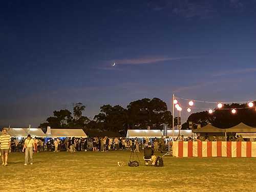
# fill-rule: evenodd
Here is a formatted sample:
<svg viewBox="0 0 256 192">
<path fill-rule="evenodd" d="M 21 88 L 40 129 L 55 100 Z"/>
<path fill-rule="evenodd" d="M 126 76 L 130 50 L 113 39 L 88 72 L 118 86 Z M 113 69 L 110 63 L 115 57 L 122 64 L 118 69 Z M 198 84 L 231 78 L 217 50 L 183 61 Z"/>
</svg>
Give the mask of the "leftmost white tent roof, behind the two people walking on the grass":
<svg viewBox="0 0 256 192">
<path fill-rule="evenodd" d="M 45 137 L 45 133 L 38 128 L 6 128 L 6 130 L 11 137 L 27 137 L 29 134 L 31 137 Z"/>
</svg>

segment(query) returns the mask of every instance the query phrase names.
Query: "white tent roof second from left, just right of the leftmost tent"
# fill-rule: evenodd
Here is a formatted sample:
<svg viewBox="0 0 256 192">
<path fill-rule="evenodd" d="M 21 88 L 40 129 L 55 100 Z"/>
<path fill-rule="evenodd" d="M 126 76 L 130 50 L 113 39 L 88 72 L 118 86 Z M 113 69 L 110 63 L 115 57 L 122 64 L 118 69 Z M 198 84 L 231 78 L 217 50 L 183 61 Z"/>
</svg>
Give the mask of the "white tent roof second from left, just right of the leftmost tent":
<svg viewBox="0 0 256 192">
<path fill-rule="evenodd" d="M 87 138 L 82 129 L 51 129 L 52 137 L 82 137 Z"/>
</svg>

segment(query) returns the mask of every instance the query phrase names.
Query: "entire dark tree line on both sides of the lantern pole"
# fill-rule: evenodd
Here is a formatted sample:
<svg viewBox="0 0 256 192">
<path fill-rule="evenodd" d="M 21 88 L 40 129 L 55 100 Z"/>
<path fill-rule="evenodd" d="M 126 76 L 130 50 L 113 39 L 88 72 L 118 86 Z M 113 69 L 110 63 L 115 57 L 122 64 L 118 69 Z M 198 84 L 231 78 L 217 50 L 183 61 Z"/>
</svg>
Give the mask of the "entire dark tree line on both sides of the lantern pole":
<svg viewBox="0 0 256 192">
<path fill-rule="evenodd" d="M 254 106 L 256 102 L 254 102 Z M 120 105 L 110 104 L 100 107 L 100 113 L 92 120 L 82 116 L 86 106 L 82 103 L 73 103 L 73 113 L 69 110 L 54 111 L 53 116 L 48 117 L 47 122 L 41 123 L 38 127 L 65 128 L 83 130 L 101 130 L 112 132 L 126 132 L 134 129 L 163 129 L 163 124 L 172 128 L 173 116 L 167 110 L 167 104 L 159 98 L 140 99 L 131 102 L 126 108 Z M 238 109 L 236 114 L 231 109 Z M 215 109 L 212 114 L 208 111 L 191 114 L 187 121 L 182 124 L 182 129 L 189 129 L 189 121 L 193 122 L 193 129 L 200 124 L 201 127 L 211 124 L 219 128 L 229 128 L 241 122 L 256 127 L 256 110 L 248 108 L 247 103 L 223 104 L 222 109 Z"/>
</svg>

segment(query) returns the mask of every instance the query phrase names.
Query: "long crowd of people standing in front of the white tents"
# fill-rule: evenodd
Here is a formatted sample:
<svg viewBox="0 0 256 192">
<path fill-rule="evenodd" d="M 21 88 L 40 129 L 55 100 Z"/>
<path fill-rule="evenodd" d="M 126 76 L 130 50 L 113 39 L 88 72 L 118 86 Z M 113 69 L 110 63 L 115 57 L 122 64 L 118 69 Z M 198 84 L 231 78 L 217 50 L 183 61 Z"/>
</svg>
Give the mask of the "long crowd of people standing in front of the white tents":
<svg viewBox="0 0 256 192">
<path fill-rule="evenodd" d="M 11 151 L 12 152 L 22 152 L 25 145 L 26 138 L 11 138 Z M 93 137 L 93 138 L 76 138 L 76 137 L 66 137 L 66 138 L 50 138 L 46 141 L 45 138 L 34 137 L 33 138 L 33 152 L 38 153 L 39 151 L 49 151 L 49 152 L 76 152 L 76 151 L 93 151 L 93 152 L 107 152 L 109 150 L 130 150 L 135 152 L 141 152 L 148 142 L 153 143 L 154 151 L 168 150 L 169 140 L 165 140 L 162 136 L 161 138 L 152 138 L 139 140 L 138 138 L 109 138 L 105 136 L 103 138 Z"/>
</svg>

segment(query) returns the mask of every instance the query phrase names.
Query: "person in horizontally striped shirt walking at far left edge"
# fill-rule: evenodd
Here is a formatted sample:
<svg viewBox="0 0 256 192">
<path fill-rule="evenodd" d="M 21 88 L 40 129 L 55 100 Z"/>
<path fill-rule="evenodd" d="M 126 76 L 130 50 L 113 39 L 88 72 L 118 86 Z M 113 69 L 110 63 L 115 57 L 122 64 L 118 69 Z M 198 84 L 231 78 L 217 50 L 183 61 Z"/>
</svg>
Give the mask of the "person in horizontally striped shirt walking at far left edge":
<svg viewBox="0 0 256 192">
<path fill-rule="evenodd" d="M 7 159 L 9 150 L 11 150 L 11 136 L 7 135 L 7 130 L 3 129 L 3 135 L 0 136 L 0 143 L 1 143 L 1 154 L 2 154 L 2 165 L 7 166 Z"/>
</svg>

